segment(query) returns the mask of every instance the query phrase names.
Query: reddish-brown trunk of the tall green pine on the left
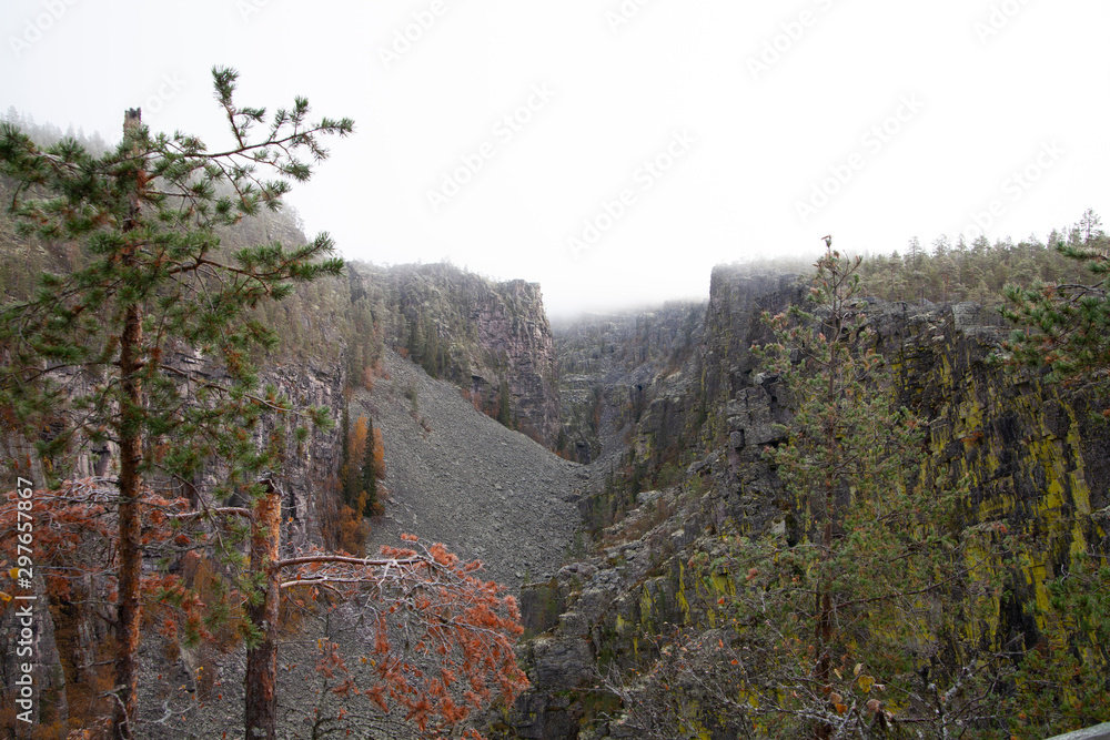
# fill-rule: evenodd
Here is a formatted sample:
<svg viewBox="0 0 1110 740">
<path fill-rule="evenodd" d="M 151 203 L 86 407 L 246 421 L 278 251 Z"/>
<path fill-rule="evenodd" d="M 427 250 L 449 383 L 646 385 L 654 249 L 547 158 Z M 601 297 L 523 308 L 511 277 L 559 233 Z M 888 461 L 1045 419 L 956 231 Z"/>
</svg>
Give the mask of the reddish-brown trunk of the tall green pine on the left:
<svg viewBox="0 0 1110 740">
<path fill-rule="evenodd" d="M 140 111 L 129 110 L 123 119 L 124 136 L 140 124 Z M 139 227 L 139 194 L 132 196 L 131 213 L 123 232 Z M 124 267 L 133 262 L 132 247 L 122 255 Z M 123 333 L 120 336 L 120 570 L 115 624 L 115 713 L 112 733 L 115 740 L 131 740 L 134 732 L 139 685 L 139 628 L 142 625 L 142 601 L 139 584 L 142 577 L 142 513 L 140 497 L 142 479 L 142 383 L 139 378 L 142 354 L 142 308 L 128 306 Z"/>
</svg>

